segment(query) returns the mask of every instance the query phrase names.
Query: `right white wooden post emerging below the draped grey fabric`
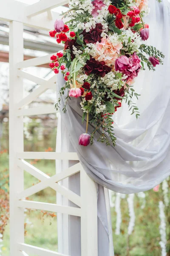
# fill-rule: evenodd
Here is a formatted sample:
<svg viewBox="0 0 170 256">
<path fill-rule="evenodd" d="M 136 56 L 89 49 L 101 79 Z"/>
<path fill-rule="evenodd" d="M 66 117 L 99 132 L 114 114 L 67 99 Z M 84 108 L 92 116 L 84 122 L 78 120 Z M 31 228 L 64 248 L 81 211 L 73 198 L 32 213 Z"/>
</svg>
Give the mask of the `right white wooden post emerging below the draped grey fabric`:
<svg viewBox="0 0 170 256">
<path fill-rule="evenodd" d="M 97 236 L 97 189 L 93 180 L 81 169 L 80 191 L 81 214 L 81 256 L 98 256 Z"/>
</svg>

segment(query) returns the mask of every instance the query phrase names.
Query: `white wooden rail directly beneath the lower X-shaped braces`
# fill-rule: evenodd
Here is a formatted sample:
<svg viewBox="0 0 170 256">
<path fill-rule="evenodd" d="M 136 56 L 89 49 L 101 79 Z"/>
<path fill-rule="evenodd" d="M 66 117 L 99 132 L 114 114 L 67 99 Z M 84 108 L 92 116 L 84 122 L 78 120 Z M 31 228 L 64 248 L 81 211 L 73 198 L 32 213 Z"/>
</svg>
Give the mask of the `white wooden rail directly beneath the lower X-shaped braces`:
<svg viewBox="0 0 170 256">
<path fill-rule="evenodd" d="M 81 209 L 77 207 L 68 207 L 68 206 L 62 206 L 57 204 L 49 204 L 49 203 L 42 203 L 42 202 L 35 202 L 35 201 L 28 201 L 28 200 L 16 201 L 16 205 L 22 208 L 44 210 L 49 212 L 61 212 L 68 215 L 74 215 L 79 217 L 81 216 Z"/>
</svg>

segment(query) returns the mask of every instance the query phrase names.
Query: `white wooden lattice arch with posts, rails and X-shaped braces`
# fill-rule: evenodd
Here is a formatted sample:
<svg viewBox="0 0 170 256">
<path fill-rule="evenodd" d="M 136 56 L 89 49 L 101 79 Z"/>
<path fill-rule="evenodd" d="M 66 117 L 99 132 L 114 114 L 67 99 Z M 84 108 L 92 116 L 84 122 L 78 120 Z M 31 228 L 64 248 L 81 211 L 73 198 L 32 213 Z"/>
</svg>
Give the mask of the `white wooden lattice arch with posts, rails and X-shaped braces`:
<svg viewBox="0 0 170 256">
<path fill-rule="evenodd" d="M 10 23 L 9 28 L 9 169 L 10 169 L 10 256 L 68 256 L 60 252 L 45 250 L 24 242 L 24 209 L 42 209 L 66 215 L 81 217 L 81 256 L 97 256 L 97 195 L 94 182 L 88 177 L 80 163 L 48 177 L 42 171 L 29 164 L 27 159 L 78 160 L 72 152 L 24 152 L 23 116 L 55 113 L 54 106 L 24 108 L 48 89 L 56 90 L 56 75 L 49 80 L 41 79 L 23 71 L 25 67 L 37 66 L 50 62 L 50 55 L 23 61 L 23 26 L 42 30 L 53 28 L 54 21 L 59 18 L 52 12 L 57 6 L 68 3 L 68 0 L 41 0 L 26 5 L 15 0 L 0 0 L 0 20 Z M 23 79 L 40 85 L 23 98 Z M 38 178 L 41 182 L 24 190 L 23 171 Z M 80 172 L 81 196 L 66 189 L 59 181 Z M 51 187 L 77 207 L 58 204 L 28 201 L 24 198 Z M 88 190 L 87 190 L 88 188 Z M 60 230 L 61 232 L 61 230 Z"/>
</svg>

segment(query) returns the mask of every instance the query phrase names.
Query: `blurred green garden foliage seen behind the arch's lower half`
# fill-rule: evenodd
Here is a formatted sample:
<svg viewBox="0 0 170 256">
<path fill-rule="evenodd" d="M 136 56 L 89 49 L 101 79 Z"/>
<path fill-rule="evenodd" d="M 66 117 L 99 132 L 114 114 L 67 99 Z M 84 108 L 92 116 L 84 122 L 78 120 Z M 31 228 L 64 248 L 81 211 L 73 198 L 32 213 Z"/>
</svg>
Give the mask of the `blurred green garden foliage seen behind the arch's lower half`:
<svg viewBox="0 0 170 256">
<path fill-rule="evenodd" d="M 34 123 L 34 121 L 35 120 L 33 120 L 32 122 Z M 31 123 L 30 126 L 32 127 Z M 37 131 L 36 128 L 34 128 L 33 130 L 34 132 Z M 8 130 L 3 129 L 3 131 L 4 133 L 0 144 L 2 145 L 0 149 L 0 181 L 3 180 L 2 177 L 4 175 L 4 170 L 8 170 L 8 145 L 6 145 L 7 141 L 4 140 L 4 138 L 6 138 L 6 133 L 8 133 Z M 51 145 L 54 145 L 55 136 L 55 133 L 52 137 L 47 136 L 48 140 L 45 140 L 44 142 L 38 141 L 36 138 L 32 139 L 34 140 L 34 147 L 32 148 L 32 150 L 34 151 L 36 148 L 36 150 L 42 151 L 42 147 L 46 145 L 47 147 L 45 147 L 45 149 L 47 151 L 51 151 L 52 148 L 49 148 L 49 144 L 51 143 Z M 44 138 L 42 140 L 44 140 Z M 28 150 L 28 148 L 30 148 L 30 143 L 30 141 L 25 140 L 25 150 Z M 6 148 L 4 148 L 4 146 L 6 146 Z M 7 152 L 4 151 L 4 149 L 7 149 Z M 29 162 L 36 166 L 38 169 L 40 169 L 42 172 L 48 174 L 49 176 L 55 174 L 54 160 L 29 160 Z M 39 182 L 36 178 L 26 172 L 24 173 L 24 180 L 25 189 Z M 3 189 L 6 189 L 8 191 L 8 175 L 6 176 L 6 184 L 3 185 Z M 164 201 L 161 187 L 159 189 L 159 192 L 154 192 L 153 190 L 150 190 L 148 192 L 145 192 L 145 195 L 146 204 L 144 209 L 141 209 L 142 199 L 135 196 L 134 207 L 136 221 L 134 231 L 130 236 L 127 235 L 127 227 L 130 220 L 127 200 L 121 199 L 122 223 L 120 235 L 115 235 L 116 212 L 115 208 L 111 208 L 115 256 L 161 256 L 161 247 L 159 244 L 160 219 L 158 208 L 159 201 Z M 34 196 L 31 196 L 29 200 L 55 203 L 56 193 L 54 190 L 47 188 L 38 192 Z M 3 209 L 0 209 L 1 214 L 2 210 Z M 168 212 L 168 207 L 165 207 L 165 214 L 167 217 L 167 256 L 170 256 L 170 212 Z M 2 233 L 1 231 L 2 230 L 0 230 L 0 233 Z M 53 212 L 27 210 L 25 212 L 25 241 L 26 243 L 32 244 L 34 246 L 57 251 L 57 218 L 55 214 Z M 8 256 L 9 224 L 7 224 L 5 227 L 2 243 L 2 256 Z"/>
</svg>

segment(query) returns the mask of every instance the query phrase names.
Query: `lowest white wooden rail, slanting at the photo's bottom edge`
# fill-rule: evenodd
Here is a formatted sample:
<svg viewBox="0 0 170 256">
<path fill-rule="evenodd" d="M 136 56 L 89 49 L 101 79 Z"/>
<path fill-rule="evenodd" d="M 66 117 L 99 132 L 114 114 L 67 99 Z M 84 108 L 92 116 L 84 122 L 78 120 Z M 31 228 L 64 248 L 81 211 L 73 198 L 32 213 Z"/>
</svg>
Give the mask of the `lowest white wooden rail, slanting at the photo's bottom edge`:
<svg viewBox="0 0 170 256">
<path fill-rule="evenodd" d="M 37 254 L 40 256 L 68 256 L 66 254 L 62 254 L 62 253 L 57 253 L 51 250 L 46 250 L 37 246 L 33 246 L 30 244 L 24 244 L 24 243 L 18 243 L 17 247 L 19 250 L 24 250 L 27 253 L 33 253 L 33 254 Z"/>
</svg>

